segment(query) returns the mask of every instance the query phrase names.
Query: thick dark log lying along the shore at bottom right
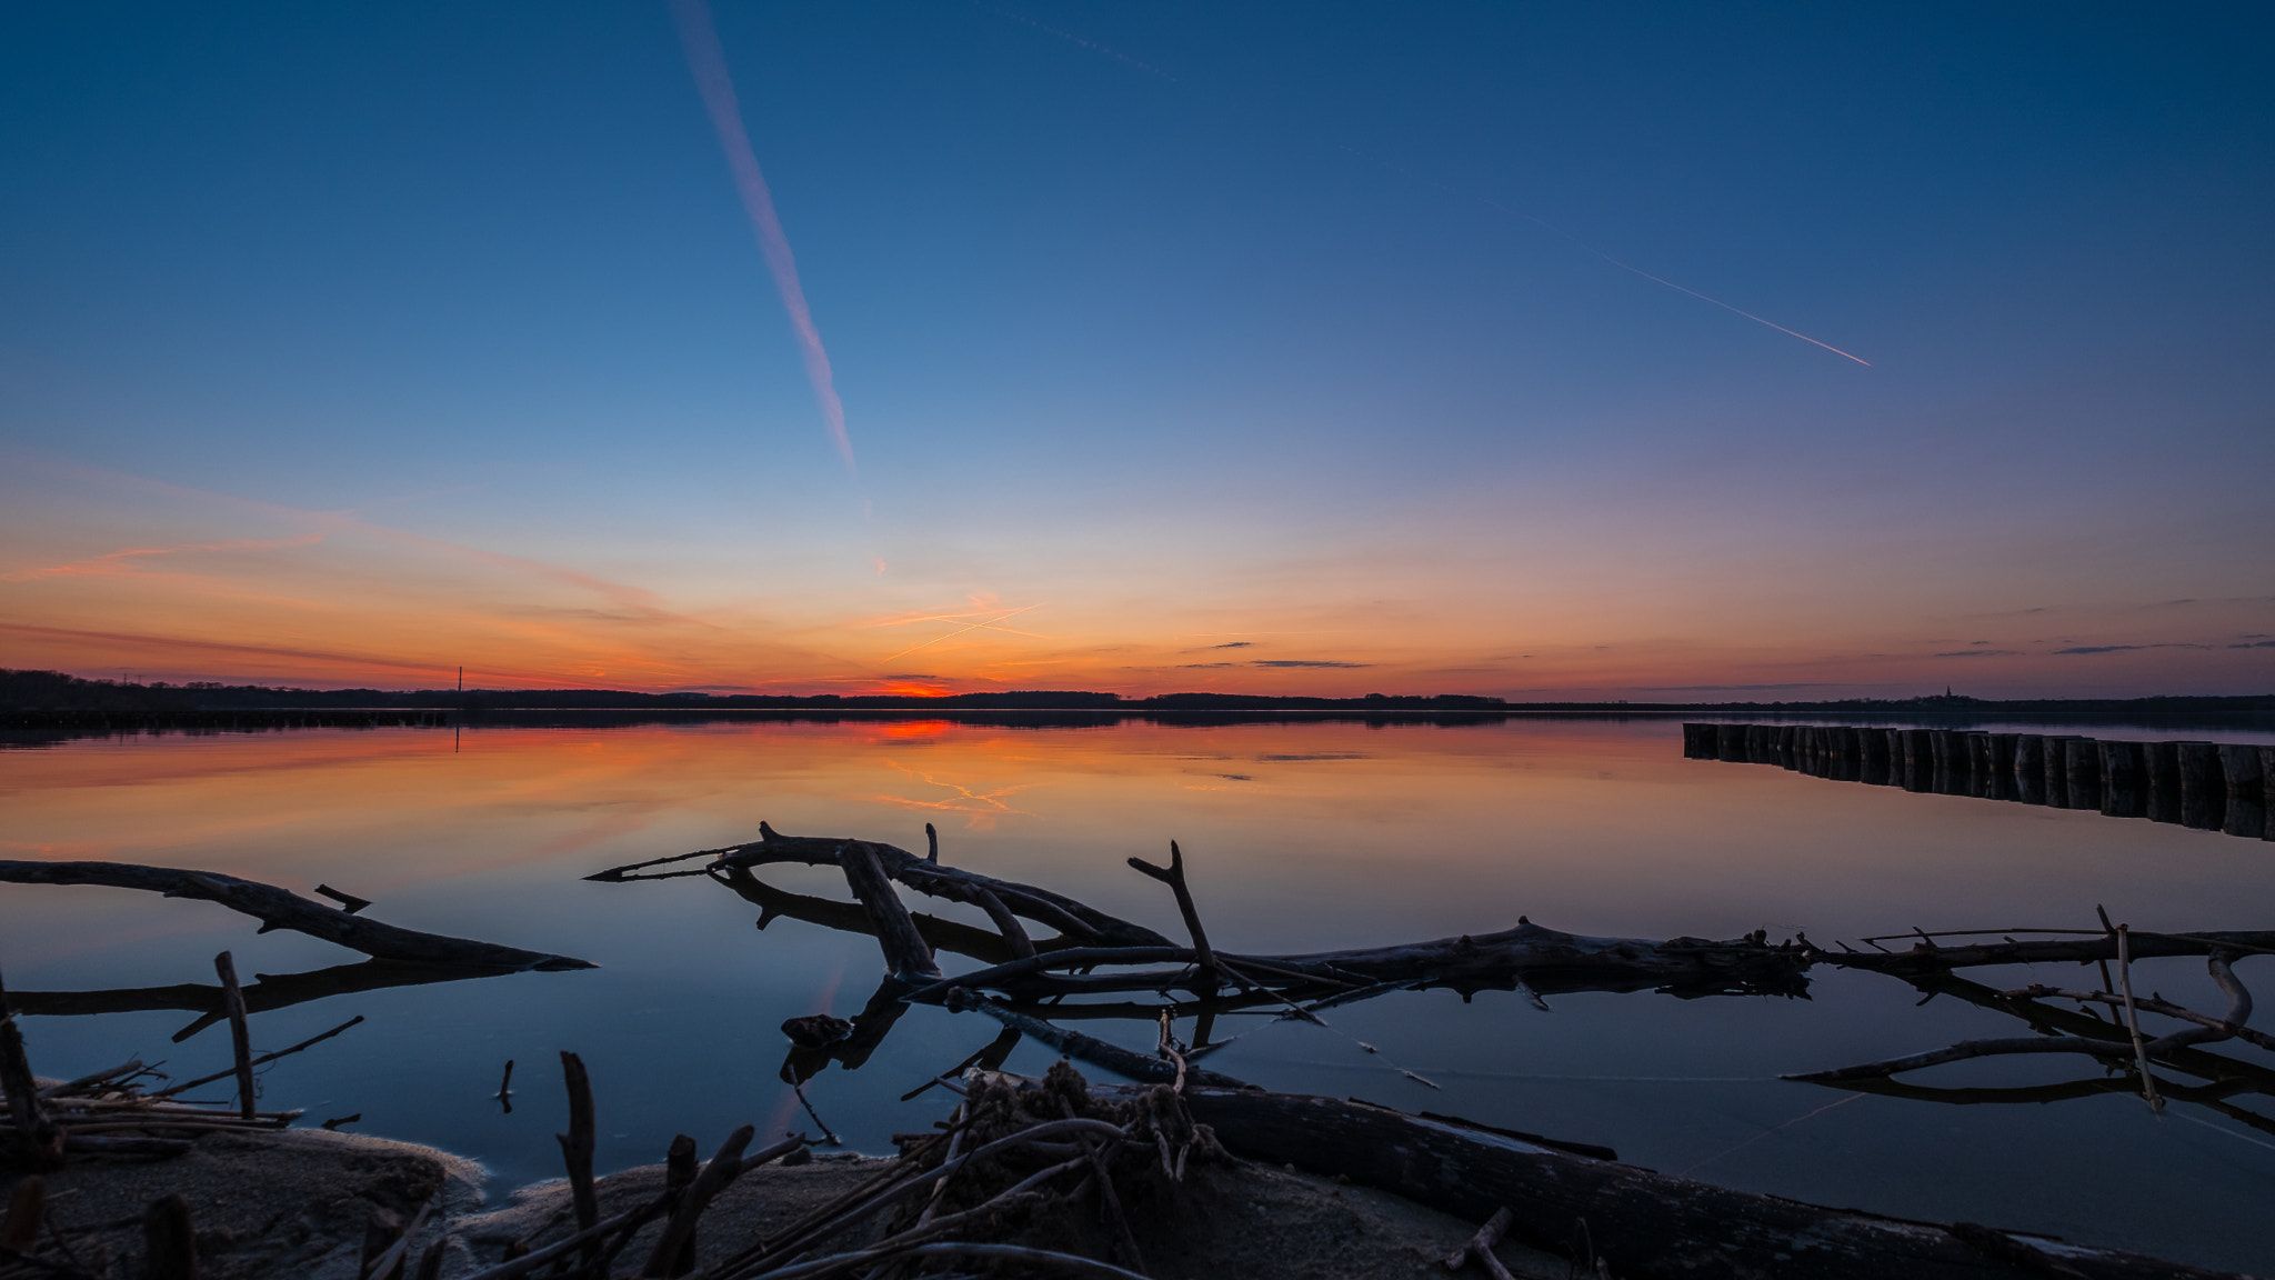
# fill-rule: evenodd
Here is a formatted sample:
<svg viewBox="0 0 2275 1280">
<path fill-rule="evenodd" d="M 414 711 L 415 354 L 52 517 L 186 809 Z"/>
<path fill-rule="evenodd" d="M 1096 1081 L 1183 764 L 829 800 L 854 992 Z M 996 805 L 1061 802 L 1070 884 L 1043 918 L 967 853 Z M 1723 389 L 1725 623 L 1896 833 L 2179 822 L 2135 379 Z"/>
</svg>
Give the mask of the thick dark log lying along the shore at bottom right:
<svg viewBox="0 0 2275 1280">
<path fill-rule="evenodd" d="M 1233 1155 L 1340 1173 L 1470 1221 L 1508 1207 L 1508 1234 L 1538 1248 L 1565 1253 L 1586 1221 L 1595 1253 L 1620 1280 L 2016 1275 L 2011 1262 L 1966 1239 L 1968 1230 L 1731 1191 L 1388 1107 L 1224 1089 L 1188 1089 L 1185 1105 Z M 2059 1257 L 2091 1280 L 2227 1275 L 2029 1232 L 1979 1239 L 1991 1237 Z"/>
</svg>

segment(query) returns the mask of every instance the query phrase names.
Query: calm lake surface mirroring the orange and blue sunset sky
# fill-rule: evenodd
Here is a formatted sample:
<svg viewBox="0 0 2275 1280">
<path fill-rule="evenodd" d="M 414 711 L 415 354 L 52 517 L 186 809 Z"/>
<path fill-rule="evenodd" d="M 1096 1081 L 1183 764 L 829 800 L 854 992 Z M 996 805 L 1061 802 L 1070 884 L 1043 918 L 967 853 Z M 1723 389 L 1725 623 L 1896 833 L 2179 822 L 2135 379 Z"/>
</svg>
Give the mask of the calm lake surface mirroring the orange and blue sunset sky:
<svg viewBox="0 0 2275 1280">
<path fill-rule="evenodd" d="M 1174 836 L 1213 938 L 1256 952 L 1490 932 L 1520 913 L 1649 938 L 2084 927 L 2095 904 L 2143 929 L 2243 929 L 2268 927 L 2275 900 L 2266 843 L 1684 761 L 1672 722 L 760 722 L 503 727 L 462 742 L 448 731 L 305 731 L 86 740 L 14 752 L 7 765 L 5 856 L 193 865 L 298 891 L 325 881 L 373 897 L 373 916 L 396 925 L 598 961 L 594 973 L 369 991 L 255 1018 L 262 1048 L 369 1018 L 271 1068 L 268 1102 L 312 1118 L 362 1111 L 366 1132 L 478 1155 L 505 1180 L 555 1171 L 560 1048 L 592 1066 L 603 1166 L 648 1162 L 680 1130 L 708 1143 L 735 1123 L 799 1121 L 776 1080 L 776 1025 L 858 1011 L 880 973 L 874 943 L 796 920 L 758 934 L 755 909 L 703 879 L 578 879 L 753 838 L 762 818 L 785 834 L 912 850 L 935 822 L 944 861 L 1165 934 L 1178 934 L 1169 895 L 1124 859 L 1160 859 Z M 767 879 L 844 897 L 826 870 L 771 868 Z M 0 886 L 0 966 L 16 991 L 209 982 L 221 947 L 243 973 L 355 959 L 296 934 L 253 936 L 218 906 L 125 891 Z M 1979 977 L 2088 984 L 2079 973 Z M 2275 959 L 2239 973 L 2264 1004 L 2275 1000 Z M 2166 998 L 2220 1007 L 2198 961 L 2152 961 L 2143 975 Z M 1224 1018 L 1222 1032 L 1242 1039 L 1210 1066 L 1608 1143 L 1654 1168 L 1806 1200 L 2266 1266 L 2275 1139 L 2230 1118 L 2193 1107 L 2152 1118 L 2127 1096 L 2050 1107 L 1845 1100 L 1774 1080 L 2018 1034 L 1956 1000 L 1916 1000 L 1902 982 L 1827 970 L 1813 1000 L 1556 995 L 1540 1014 L 1508 993 L 1467 1007 L 1447 991 L 1406 993 L 1338 1009 L 1331 1029 Z M 27 1034 L 50 1075 L 130 1052 L 202 1073 L 225 1039 L 171 1045 L 189 1020 L 34 1018 Z M 1144 1027 L 1083 1029 L 1151 1045 Z M 937 1093 L 896 1098 L 994 1032 L 912 1009 L 860 1073 L 830 1068 L 808 1093 L 853 1146 L 883 1150 L 890 1132 L 940 1109 Z M 519 1093 L 500 1116 L 489 1093 L 507 1057 L 521 1064 Z M 1021 1048 L 1010 1066 L 1046 1061 Z M 1934 1082 L 2091 1070 L 2082 1059 L 1984 1061 L 1938 1068 Z"/>
</svg>

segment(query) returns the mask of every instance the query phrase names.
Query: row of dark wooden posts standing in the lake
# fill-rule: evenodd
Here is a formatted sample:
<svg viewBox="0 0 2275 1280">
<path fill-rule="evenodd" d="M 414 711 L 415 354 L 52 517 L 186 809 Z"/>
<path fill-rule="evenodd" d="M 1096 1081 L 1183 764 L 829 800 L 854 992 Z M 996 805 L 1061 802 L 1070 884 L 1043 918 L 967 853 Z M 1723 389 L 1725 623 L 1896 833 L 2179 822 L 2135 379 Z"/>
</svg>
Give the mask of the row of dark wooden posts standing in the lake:
<svg viewBox="0 0 2275 1280">
<path fill-rule="evenodd" d="M 2275 840 L 2275 745 L 1877 724 L 1684 724 L 1684 756 Z"/>
</svg>

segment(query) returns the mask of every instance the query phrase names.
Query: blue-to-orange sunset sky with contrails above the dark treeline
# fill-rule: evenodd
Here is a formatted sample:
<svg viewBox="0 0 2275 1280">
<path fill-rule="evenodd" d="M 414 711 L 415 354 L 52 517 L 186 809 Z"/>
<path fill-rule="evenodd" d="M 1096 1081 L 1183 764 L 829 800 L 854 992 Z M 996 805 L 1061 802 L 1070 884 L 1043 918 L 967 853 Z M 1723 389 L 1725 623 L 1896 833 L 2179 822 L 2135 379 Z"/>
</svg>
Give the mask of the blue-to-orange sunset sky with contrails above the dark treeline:
<svg viewBox="0 0 2275 1280">
<path fill-rule="evenodd" d="M 11 5 L 0 665 L 2275 692 L 2259 5 Z"/>
</svg>

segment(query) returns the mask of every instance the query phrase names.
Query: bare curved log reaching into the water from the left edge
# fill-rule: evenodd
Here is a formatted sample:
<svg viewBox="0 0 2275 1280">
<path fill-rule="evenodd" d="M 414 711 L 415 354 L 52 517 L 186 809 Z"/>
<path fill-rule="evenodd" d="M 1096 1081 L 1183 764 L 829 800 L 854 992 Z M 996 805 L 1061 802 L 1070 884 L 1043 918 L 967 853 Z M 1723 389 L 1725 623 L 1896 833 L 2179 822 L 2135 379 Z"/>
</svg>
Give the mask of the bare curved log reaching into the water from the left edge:
<svg viewBox="0 0 2275 1280">
<path fill-rule="evenodd" d="M 230 911 L 243 911 L 262 922 L 259 932 L 291 929 L 328 943 L 339 943 L 350 952 L 373 959 L 432 963 L 432 966 L 478 966 L 503 970 L 564 970 L 594 968 L 592 961 L 475 943 L 469 938 L 446 938 L 380 925 L 364 916 L 350 916 L 337 906 L 309 902 L 298 893 L 239 879 L 234 875 L 180 868 L 146 868 L 136 863 L 36 863 L 0 861 L 0 884 L 102 884 L 109 888 L 143 888 L 166 897 L 198 897 L 218 902 Z"/>
</svg>

